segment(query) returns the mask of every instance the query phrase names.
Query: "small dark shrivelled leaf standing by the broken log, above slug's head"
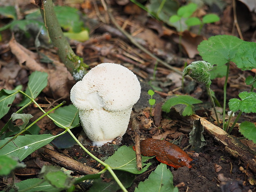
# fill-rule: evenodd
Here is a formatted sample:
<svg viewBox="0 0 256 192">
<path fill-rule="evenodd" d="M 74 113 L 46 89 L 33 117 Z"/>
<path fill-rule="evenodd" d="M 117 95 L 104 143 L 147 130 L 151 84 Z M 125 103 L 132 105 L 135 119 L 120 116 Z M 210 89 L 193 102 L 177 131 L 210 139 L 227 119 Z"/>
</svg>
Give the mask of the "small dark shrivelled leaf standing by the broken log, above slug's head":
<svg viewBox="0 0 256 192">
<path fill-rule="evenodd" d="M 207 142 L 204 139 L 204 126 L 201 125 L 201 121 L 195 120 L 193 122 L 193 128 L 192 131 L 189 133 L 190 140 L 189 143 L 192 145 L 191 150 L 194 150 L 195 152 L 201 152 Z"/>
</svg>

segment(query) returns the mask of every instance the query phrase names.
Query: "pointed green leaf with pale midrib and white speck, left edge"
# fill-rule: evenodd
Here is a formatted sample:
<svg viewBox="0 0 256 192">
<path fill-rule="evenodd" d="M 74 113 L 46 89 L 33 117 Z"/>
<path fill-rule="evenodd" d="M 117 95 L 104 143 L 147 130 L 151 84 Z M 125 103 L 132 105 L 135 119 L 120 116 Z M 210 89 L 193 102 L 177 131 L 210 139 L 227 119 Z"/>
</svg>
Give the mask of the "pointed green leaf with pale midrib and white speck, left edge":
<svg viewBox="0 0 256 192">
<path fill-rule="evenodd" d="M 10 154 L 16 156 L 20 161 L 40 147 L 47 145 L 57 136 L 50 134 L 43 135 L 19 135 L 16 140 L 9 142 L 0 150 L 0 155 Z M 0 146 L 4 145 L 12 137 L 0 140 Z"/>
</svg>

